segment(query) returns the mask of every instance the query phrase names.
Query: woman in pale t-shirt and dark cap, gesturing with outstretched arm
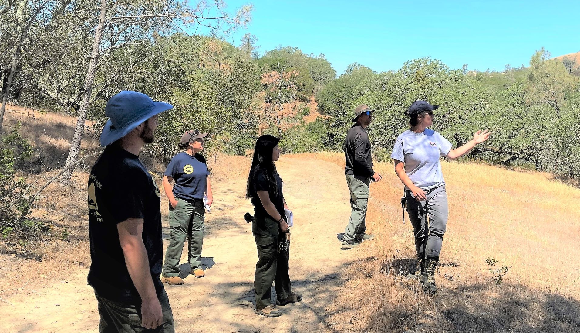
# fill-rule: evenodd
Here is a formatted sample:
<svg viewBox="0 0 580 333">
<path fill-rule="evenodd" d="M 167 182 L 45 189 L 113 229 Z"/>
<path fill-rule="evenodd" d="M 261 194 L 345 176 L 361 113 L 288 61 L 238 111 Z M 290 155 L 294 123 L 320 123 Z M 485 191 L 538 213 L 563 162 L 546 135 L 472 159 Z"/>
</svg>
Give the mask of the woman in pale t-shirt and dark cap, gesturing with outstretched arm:
<svg viewBox="0 0 580 333">
<path fill-rule="evenodd" d="M 419 270 L 407 275 L 418 279 L 423 291 L 435 293 L 435 270 L 447 230 L 448 206 L 445 181 L 439 158 L 456 159 L 477 144 L 486 141 L 491 133 L 477 131 L 473 139 L 461 147 L 453 148 L 443 135 L 428 127 L 433 125 L 433 111 L 438 105 L 415 101 L 409 107 L 409 130 L 398 136 L 391 158 L 395 173 L 405 185 L 404 200 L 409 220 L 413 225 Z M 428 218 L 428 219 L 427 219 Z"/>
</svg>

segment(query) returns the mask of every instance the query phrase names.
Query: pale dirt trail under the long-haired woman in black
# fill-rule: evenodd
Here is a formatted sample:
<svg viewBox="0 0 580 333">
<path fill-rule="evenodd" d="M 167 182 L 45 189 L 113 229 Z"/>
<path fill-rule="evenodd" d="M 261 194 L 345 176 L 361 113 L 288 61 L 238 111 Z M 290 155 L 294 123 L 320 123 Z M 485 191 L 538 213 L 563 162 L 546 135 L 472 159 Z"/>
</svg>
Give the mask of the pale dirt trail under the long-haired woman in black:
<svg viewBox="0 0 580 333">
<path fill-rule="evenodd" d="M 215 202 L 206 215 L 203 262 L 206 277 L 188 275 L 181 265 L 181 286 L 165 285 L 176 332 L 313 332 L 332 330 L 327 307 L 340 292 L 345 269 L 366 252 L 340 250 L 350 213 L 344 171 L 336 164 L 282 156 L 278 170 L 284 194 L 295 214 L 292 228 L 290 277 L 304 301 L 281 307 L 284 315 L 266 318 L 253 313 L 253 274 L 257 260 L 251 226 L 243 214 L 252 209 L 244 200 L 244 179 L 214 181 Z M 164 219 L 164 245 L 168 224 Z M 184 251 L 182 263 L 187 262 Z M 3 332 L 97 332 L 98 313 L 87 270 L 62 282 L 35 289 L 37 293 L 8 299 L 0 305 Z M 114 279 L 114 276 L 111 275 Z M 31 287 L 31 289 L 34 289 Z M 275 292 L 273 291 L 273 298 Z"/>
</svg>

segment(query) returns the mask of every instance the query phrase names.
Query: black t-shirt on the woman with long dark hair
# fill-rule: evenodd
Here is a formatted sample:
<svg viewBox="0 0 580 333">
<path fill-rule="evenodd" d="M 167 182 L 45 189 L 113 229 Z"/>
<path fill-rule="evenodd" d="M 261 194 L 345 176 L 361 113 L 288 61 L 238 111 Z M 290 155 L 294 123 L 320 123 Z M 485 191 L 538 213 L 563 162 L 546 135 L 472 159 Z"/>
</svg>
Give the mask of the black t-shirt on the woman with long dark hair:
<svg viewBox="0 0 580 333">
<path fill-rule="evenodd" d="M 274 194 L 273 187 L 266 177 L 266 170 L 258 169 L 253 174 L 250 201 L 254 206 L 256 219 L 262 220 L 264 217 L 268 217 L 269 219 L 276 221 L 276 219 L 271 217 L 270 214 L 266 212 L 266 209 L 264 209 L 262 201 L 260 201 L 258 196 L 258 191 L 268 191 L 270 201 L 274 204 L 274 207 L 276 207 L 276 210 L 278 210 L 278 213 L 280 213 L 284 220 L 286 219 L 286 214 L 284 213 L 284 195 L 282 194 L 282 178 L 280 178 L 280 175 L 277 172 L 274 172 L 273 178 L 278 187 L 277 194 Z"/>
</svg>

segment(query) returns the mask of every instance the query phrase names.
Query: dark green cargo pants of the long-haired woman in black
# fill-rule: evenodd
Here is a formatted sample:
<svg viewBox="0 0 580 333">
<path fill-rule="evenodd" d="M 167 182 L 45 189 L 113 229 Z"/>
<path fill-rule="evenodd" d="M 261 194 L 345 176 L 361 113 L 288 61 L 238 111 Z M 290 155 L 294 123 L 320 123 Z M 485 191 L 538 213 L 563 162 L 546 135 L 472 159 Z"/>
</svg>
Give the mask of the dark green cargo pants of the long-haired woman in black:
<svg viewBox="0 0 580 333">
<path fill-rule="evenodd" d="M 252 222 L 252 234 L 258 247 L 258 263 L 254 276 L 256 307 L 263 309 L 271 304 L 271 288 L 274 283 L 278 299 L 287 298 L 292 292 L 288 274 L 288 253 L 278 253 L 283 237 L 278 223 L 269 218 L 256 218 Z"/>
</svg>

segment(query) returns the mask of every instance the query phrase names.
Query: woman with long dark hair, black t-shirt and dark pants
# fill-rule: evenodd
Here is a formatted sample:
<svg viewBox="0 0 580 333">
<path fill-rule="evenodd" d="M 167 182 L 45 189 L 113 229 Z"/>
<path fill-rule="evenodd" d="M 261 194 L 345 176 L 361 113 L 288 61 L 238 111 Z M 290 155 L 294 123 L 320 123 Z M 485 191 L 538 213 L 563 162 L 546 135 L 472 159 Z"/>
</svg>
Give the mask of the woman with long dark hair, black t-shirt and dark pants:
<svg viewBox="0 0 580 333">
<path fill-rule="evenodd" d="M 276 305 L 300 302 L 302 295 L 292 292 L 288 275 L 288 253 L 279 252 L 279 245 L 288 229 L 284 209 L 288 209 L 282 194 L 282 178 L 276 171 L 280 158 L 279 138 L 262 135 L 256 141 L 252 166 L 248 175 L 246 199 L 254 206 L 252 234 L 258 246 L 258 263 L 254 277 L 256 314 L 278 317 L 282 312 Z M 272 283 L 276 281 L 276 305 L 270 301 Z"/>
</svg>

